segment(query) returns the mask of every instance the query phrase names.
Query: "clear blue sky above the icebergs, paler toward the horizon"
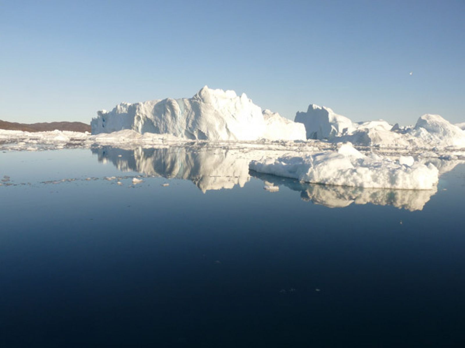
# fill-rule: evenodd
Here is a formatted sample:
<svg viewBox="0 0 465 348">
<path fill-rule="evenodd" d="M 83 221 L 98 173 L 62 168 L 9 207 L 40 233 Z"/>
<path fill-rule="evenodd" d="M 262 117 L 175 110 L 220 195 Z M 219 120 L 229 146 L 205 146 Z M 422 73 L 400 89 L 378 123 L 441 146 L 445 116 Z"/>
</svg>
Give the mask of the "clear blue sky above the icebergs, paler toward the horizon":
<svg viewBox="0 0 465 348">
<path fill-rule="evenodd" d="M 0 0 L 0 119 L 89 123 L 204 85 L 290 119 L 464 122 L 465 0 Z"/>
</svg>

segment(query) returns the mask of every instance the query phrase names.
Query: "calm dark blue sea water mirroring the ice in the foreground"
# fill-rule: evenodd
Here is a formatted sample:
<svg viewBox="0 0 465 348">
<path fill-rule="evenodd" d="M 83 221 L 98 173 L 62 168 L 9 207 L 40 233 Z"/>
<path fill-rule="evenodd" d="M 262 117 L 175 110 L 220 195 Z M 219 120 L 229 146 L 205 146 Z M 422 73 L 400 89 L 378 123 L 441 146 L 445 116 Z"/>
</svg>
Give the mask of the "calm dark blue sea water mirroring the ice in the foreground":
<svg viewBox="0 0 465 348">
<path fill-rule="evenodd" d="M 0 153 L 1 347 L 465 344 L 463 164 L 370 191 L 174 152 Z"/>
</svg>

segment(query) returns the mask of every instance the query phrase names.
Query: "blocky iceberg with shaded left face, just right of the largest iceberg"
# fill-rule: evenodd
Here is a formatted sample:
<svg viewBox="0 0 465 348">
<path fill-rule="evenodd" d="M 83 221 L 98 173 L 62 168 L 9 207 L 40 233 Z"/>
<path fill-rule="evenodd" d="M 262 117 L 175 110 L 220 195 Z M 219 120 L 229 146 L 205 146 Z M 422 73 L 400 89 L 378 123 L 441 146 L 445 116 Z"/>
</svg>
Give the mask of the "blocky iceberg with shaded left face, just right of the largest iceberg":
<svg viewBox="0 0 465 348">
<path fill-rule="evenodd" d="M 307 112 L 297 112 L 295 122 L 305 125 L 307 139 L 330 139 L 354 130 L 349 118 L 315 104 L 310 104 Z"/>
</svg>

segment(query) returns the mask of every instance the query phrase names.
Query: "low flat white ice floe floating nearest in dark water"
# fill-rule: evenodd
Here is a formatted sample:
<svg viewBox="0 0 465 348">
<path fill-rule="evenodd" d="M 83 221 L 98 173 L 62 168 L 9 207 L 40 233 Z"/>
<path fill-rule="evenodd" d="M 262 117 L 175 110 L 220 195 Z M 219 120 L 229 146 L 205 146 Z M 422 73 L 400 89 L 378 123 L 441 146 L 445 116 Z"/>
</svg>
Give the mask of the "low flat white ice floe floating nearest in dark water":
<svg viewBox="0 0 465 348">
<path fill-rule="evenodd" d="M 341 186 L 430 190 L 438 182 L 438 169 L 432 164 L 417 162 L 408 166 L 374 153 L 365 156 L 350 143 L 338 151 L 262 158 L 252 161 L 249 168 L 309 183 Z"/>
</svg>

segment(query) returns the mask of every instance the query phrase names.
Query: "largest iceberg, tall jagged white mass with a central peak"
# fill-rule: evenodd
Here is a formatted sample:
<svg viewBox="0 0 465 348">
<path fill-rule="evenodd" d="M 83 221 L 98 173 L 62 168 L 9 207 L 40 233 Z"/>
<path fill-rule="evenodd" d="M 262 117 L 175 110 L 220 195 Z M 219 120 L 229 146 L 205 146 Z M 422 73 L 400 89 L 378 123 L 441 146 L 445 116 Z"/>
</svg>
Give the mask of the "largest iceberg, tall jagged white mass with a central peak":
<svg viewBox="0 0 465 348">
<path fill-rule="evenodd" d="M 205 86 L 192 98 L 121 103 L 100 111 L 91 122 L 92 134 L 130 129 L 139 133 L 171 134 L 193 140 L 305 140 L 305 128 L 266 112 L 243 93 Z"/>
</svg>

